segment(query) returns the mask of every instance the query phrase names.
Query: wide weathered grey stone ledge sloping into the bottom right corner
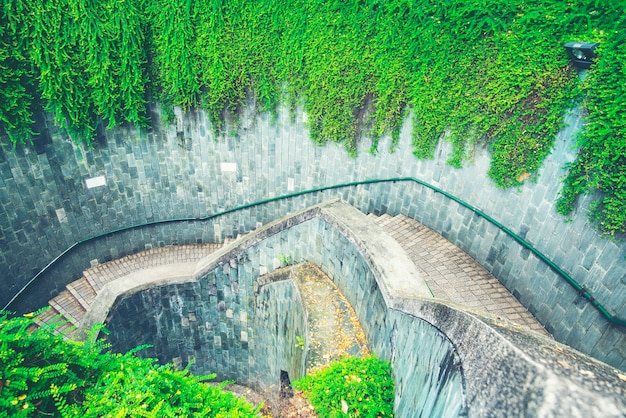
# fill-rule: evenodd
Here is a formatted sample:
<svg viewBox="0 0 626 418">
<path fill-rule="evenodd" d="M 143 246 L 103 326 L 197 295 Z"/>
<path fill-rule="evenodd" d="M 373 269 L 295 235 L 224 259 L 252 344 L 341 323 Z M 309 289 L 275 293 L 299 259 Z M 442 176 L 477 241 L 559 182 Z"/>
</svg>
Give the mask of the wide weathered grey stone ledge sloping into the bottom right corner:
<svg viewBox="0 0 626 418">
<path fill-rule="evenodd" d="M 470 416 L 626 413 L 625 376 L 549 337 L 442 301 L 396 298 L 391 309 L 450 339 L 461 360 Z"/>
</svg>

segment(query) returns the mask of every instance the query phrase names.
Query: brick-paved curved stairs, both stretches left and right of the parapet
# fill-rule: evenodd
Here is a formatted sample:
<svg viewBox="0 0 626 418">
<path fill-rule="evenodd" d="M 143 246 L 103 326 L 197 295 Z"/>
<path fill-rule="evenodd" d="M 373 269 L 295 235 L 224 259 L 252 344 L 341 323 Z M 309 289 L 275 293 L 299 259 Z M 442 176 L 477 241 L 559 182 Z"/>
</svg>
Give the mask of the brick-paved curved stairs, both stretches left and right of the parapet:
<svg viewBox="0 0 626 418">
<path fill-rule="evenodd" d="M 498 279 L 469 255 L 441 235 L 404 216 L 388 214 L 368 217 L 382 227 L 406 251 L 427 282 L 434 297 L 468 310 L 504 318 L 521 328 L 549 335 L 544 327 Z M 236 239 L 241 238 L 238 236 Z M 129 273 L 168 264 L 196 262 L 235 239 L 221 244 L 194 244 L 153 248 L 108 263 L 95 265 L 83 277 L 49 301 L 50 309 L 37 322 L 62 322 L 56 332 L 78 326 L 98 292 L 109 282 Z"/>
</svg>

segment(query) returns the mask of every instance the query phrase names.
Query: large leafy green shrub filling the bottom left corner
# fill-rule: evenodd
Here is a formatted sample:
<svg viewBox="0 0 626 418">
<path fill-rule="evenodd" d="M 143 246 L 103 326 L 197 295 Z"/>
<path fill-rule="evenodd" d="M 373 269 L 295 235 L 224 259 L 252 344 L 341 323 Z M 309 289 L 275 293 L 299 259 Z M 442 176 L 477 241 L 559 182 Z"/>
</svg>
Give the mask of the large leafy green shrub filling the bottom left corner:
<svg viewBox="0 0 626 418">
<path fill-rule="evenodd" d="M 245 401 L 211 376 L 159 366 L 155 359 L 111 354 L 107 344 L 66 340 L 60 324 L 34 329 L 33 314 L 0 312 L 0 417 L 254 417 Z M 90 341 L 90 342 L 89 342 Z"/>
</svg>

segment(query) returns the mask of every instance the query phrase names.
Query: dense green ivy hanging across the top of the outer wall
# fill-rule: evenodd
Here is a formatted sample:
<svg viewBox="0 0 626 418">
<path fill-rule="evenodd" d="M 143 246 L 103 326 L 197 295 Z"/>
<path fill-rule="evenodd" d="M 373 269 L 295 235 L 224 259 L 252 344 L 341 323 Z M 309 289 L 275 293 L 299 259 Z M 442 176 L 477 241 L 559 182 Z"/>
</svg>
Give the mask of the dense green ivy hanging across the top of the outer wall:
<svg viewBox="0 0 626 418">
<path fill-rule="evenodd" d="M 615 0 L 3 0 L 0 131 L 36 140 L 40 109 L 87 144 L 99 124 L 145 124 L 146 103 L 201 106 L 217 130 L 253 93 L 308 115 L 318 144 L 390 134 L 413 152 L 488 147 L 499 187 L 537 172 L 574 101 L 587 110 L 558 210 L 626 232 L 626 5 Z M 563 44 L 597 41 L 583 82 Z"/>
</svg>

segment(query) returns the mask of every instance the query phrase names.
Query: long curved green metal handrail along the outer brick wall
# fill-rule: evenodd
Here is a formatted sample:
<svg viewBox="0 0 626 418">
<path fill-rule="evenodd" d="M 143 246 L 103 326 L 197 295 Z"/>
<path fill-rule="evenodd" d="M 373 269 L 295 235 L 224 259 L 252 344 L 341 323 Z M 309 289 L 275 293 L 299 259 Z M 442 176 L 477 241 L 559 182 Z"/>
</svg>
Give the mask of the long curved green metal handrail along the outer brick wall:
<svg viewBox="0 0 626 418">
<path fill-rule="evenodd" d="M 472 212 L 474 212 L 475 214 L 477 214 L 481 218 L 487 220 L 488 222 L 490 222 L 494 226 L 498 227 L 500 230 L 504 231 L 507 235 L 509 235 L 511 238 L 513 238 L 515 241 L 517 241 L 524 248 L 526 248 L 530 252 L 532 252 L 541 261 L 546 263 L 555 273 L 557 273 L 561 278 L 563 278 L 567 283 L 569 283 L 570 286 L 572 286 L 576 291 L 578 291 L 581 296 L 583 296 L 589 303 L 591 303 L 591 305 L 594 308 L 596 308 L 600 312 L 600 314 L 602 316 L 604 316 L 604 318 L 606 318 L 609 322 L 612 322 L 614 324 L 620 325 L 622 327 L 626 327 L 626 320 L 621 319 L 621 318 L 617 318 L 617 317 L 611 315 L 606 310 L 606 308 L 604 306 L 602 306 L 602 304 L 600 304 L 584 286 L 582 286 L 581 284 L 576 282 L 569 274 L 567 274 L 565 271 L 563 271 L 563 269 L 561 269 L 559 266 L 557 266 L 552 260 L 550 260 L 548 257 L 546 257 L 543 253 L 541 253 L 539 250 L 537 250 L 535 247 L 533 247 L 528 241 L 526 241 L 525 239 L 523 239 L 522 237 L 520 237 L 519 235 L 517 235 L 516 233 L 511 231 L 509 228 L 505 227 L 500 222 L 496 221 L 491 216 L 489 216 L 485 212 L 481 211 L 480 209 L 470 205 L 469 203 L 459 199 L 458 197 L 456 197 L 456 196 L 454 196 L 454 195 L 452 195 L 452 194 L 450 194 L 450 193 L 448 193 L 448 192 L 446 192 L 446 191 L 444 191 L 444 190 L 442 190 L 442 189 L 440 189 L 440 188 L 438 188 L 436 186 L 433 186 L 432 184 L 429 184 L 429 183 L 427 183 L 427 182 L 425 182 L 423 180 L 417 179 L 415 177 L 392 177 L 392 178 L 389 178 L 389 179 L 369 179 L 369 180 L 360 180 L 360 181 L 353 181 L 353 182 L 348 182 L 348 183 L 334 184 L 334 185 L 331 185 L 331 186 L 317 187 L 317 188 L 314 188 L 314 189 L 302 190 L 302 191 L 299 191 L 299 192 L 289 193 L 289 194 L 280 195 L 280 196 L 276 196 L 276 197 L 270 197 L 270 198 L 267 198 L 267 199 L 259 200 L 257 202 L 246 203 L 244 205 L 236 206 L 234 208 L 227 209 L 227 210 L 222 211 L 222 212 L 214 213 L 212 215 L 202 216 L 202 217 L 198 217 L 198 218 L 175 218 L 175 219 L 166 219 L 166 220 L 162 220 L 162 221 L 152 221 L 152 222 L 147 222 L 147 223 L 143 223 L 143 224 L 131 225 L 131 226 L 115 229 L 115 230 L 112 230 L 112 231 L 108 231 L 108 232 L 105 232 L 105 233 L 102 233 L 102 234 L 98 234 L 98 235 L 92 236 L 90 238 L 86 238 L 84 240 L 80 240 L 80 241 L 75 242 L 74 244 L 69 246 L 65 251 L 63 251 L 61 254 L 56 256 L 52 261 L 50 261 L 43 269 L 41 269 L 32 279 L 30 279 L 28 281 L 28 283 L 26 283 L 26 285 L 24 285 L 24 287 L 22 287 L 11 298 L 11 300 L 4 306 L 3 310 L 8 309 L 11 306 L 11 304 L 22 293 L 24 293 L 26 291 L 26 289 L 29 286 L 31 286 L 43 273 L 45 273 L 52 265 L 57 263 L 61 258 L 63 258 L 67 253 L 69 253 L 75 247 L 77 247 L 79 245 L 82 245 L 82 244 L 85 244 L 87 242 L 99 239 L 99 238 L 103 238 L 103 237 L 106 237 L 106 236 L 109 236 L 109 235 L 114 235 L 114 234 L 117 234 L 117 233 L 120 233 L 120 232 L 124 232 L 124 231 L 129 231 L 129 230 L 132 230 L 132 229 L 138 229 L 138 228 L 143 228 L 143 227 L 146 227 L 146 226 L 152 226 L 152 225 L 167 224 L 167 223 L 178 223 L 178 222 L 207 221 L 207 220 L 210 220 L 210 219 L 213 219 L 213 218 L 217 218 L 219 216 L 227 215 L 229 213 L 238 212 L 240 210 L 249 209 L 249 208 L 252 208 L 252 207 L 255 207 L 255 206 L 264 205 L 266 203 L 271 203 L 271 202 L 275 202 L 275 201 L 283 200 L 283 199 L 289 199 L 289 198 L 292 198 L 292 197 L 302 196 L 302 195 L 306 195 L 306 194 L 324 192 L 326 190 L 341 189 L 341 188 L 344 188 L 344 187 L 362 186 L 362 185 L 366 185 L 366 184 L 395 183 L 395 182 L 413 182 L 413 183 L 417 183 L 417 184 L 419 184 L 421 186 L 424 186 L 424 187 L 426 187 L 428 189 L 433 190 L 436 193 L 439 193 L 439 194 L 447 197 L 450 200 L 453 200 L 454 202 L 458 203 L 459 205 L 461 205 L 461 206 L 471 210 Z"/>
</svg>

